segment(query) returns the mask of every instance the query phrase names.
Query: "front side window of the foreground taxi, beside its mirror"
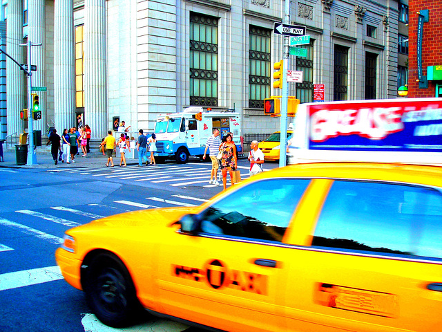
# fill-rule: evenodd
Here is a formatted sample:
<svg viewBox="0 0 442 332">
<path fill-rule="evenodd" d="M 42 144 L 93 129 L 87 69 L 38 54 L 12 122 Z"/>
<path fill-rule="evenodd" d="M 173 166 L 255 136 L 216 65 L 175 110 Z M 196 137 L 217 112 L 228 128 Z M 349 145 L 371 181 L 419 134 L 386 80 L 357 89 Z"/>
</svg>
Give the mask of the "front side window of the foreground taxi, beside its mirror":
<svg viewBox="0 0 442 332">
<path fill-rule="evenodd" d="M 309 182 L 278 178 L 242 187 L 202 213 L 202 232 L 280 242 Z"/>
</svg>

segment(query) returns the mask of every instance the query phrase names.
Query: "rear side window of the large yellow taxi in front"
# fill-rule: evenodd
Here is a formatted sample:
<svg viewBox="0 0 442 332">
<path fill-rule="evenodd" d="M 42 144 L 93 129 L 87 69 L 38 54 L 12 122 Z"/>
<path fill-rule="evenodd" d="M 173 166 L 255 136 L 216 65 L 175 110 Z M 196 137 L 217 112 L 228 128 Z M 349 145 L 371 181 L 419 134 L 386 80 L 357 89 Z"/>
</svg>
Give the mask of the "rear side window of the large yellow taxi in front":
<svg viewBox="0 0 442 332">
<path fill-rule="evenodd" d="M 441 238 L 439 190 L 335 181 L 312 245 L 442 259 Z"/>
</svg>

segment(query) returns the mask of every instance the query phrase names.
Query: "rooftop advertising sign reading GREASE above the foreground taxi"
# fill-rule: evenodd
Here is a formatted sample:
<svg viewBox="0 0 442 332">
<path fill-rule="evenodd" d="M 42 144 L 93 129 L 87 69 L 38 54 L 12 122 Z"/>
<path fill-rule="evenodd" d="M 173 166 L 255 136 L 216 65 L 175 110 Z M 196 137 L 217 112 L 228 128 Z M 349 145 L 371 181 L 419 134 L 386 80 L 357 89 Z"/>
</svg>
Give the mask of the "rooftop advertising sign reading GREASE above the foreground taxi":
<svg viewBox="0 0 442 332">
<path fill-rule="evenodd" d="M 442 164 L 442 98 L 299 104 L 289 164 Z"/>
</svg>

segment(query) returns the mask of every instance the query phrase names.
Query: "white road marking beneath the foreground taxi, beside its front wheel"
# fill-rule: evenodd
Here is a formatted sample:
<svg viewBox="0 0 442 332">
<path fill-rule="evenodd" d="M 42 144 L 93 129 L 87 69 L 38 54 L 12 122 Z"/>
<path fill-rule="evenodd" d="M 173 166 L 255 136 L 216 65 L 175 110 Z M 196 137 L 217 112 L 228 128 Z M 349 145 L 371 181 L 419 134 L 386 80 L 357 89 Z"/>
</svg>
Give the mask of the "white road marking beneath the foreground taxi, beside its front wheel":
<svg viewBox="0 0 442 332">
<path fill-rule="evenodd" d="M 171 320 L 155 320 L 153 322 L 146 322 L 131 327 L 122 329 L 115 329 L 113 327 L 104 325 L 98 320 L 98 318 L 92 313 L 86 313 L 83 319 L 81 319 L 85 332 L 181 332 L 189 329 L 189 326 L 182 323 L 173 322 Z"/>
</svg>

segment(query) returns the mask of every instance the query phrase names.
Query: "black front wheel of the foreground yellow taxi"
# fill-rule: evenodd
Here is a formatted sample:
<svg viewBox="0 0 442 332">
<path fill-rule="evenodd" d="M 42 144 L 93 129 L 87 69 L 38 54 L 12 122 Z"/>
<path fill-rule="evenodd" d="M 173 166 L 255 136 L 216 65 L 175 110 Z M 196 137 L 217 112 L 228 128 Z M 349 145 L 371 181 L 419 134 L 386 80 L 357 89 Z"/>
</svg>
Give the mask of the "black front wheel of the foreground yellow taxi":
<svg viewBox="0 0 442 332">
<path fill-rule="evenodd" d="M 113 255 L 100 254 L 90 261 L 84 291 L 93 313 L 108 326 L 128 326 L 141 313 L 131 275 Z"/>
</svg>

